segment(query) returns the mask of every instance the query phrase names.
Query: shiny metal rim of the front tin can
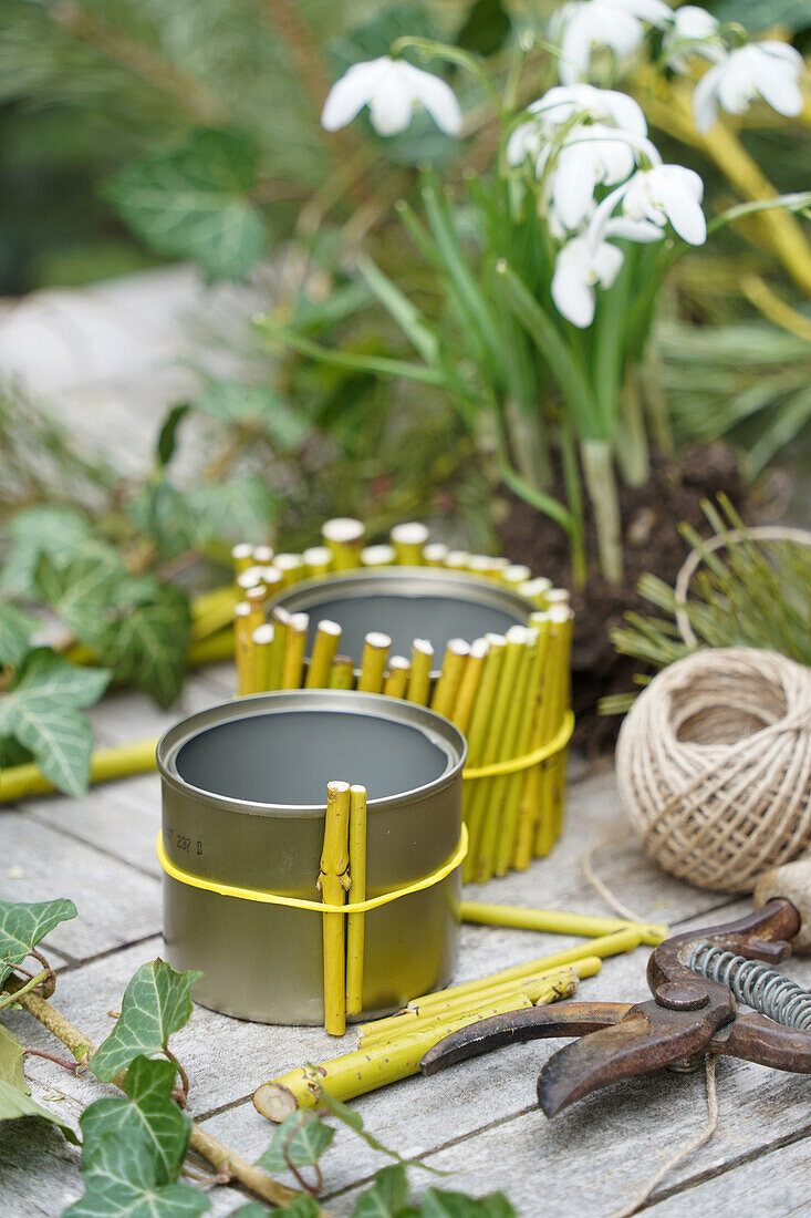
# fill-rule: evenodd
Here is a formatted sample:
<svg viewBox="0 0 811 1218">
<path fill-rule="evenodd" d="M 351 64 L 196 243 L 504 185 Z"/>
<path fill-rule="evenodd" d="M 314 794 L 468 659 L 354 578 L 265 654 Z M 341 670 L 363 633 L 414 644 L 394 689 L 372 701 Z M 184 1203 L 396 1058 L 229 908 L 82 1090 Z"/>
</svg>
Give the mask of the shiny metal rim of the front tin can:
<svg viewBox="0 0 811 1218">
<path fill-rule="evenodd" d="M 244 815 L 323 816 L 326 800 L 323 804 L 273 804 L 235 799 L 230 795 L 220 795 L 217 792 L 207 790 L 205 787 L 196 787 L 183 778 L 177 767 L 178 754 L 184 744 L 220 723 L 248 719 L 255 715 L 297 713 L 302 710 L 320 710 L 334 714 L 340 714 L 341 711 L 356 715 L 365 714 L 375 719 L 402 723 L 404 727 L 421 731 L 431 744 L 444 753 L 447 758 L 446 766 L 437 778 L 432 778 L 419 787 L 409 787 L 407 790 L 397 792 L 393 795 L 370 799 L 368 804 L 369 811 L 396 805 L 406 806 L 425 795 L 444 790 L 446 787 L 451 786 L 460 776 L 468 759 L 468 742 L 459 728 L 451 720 L 437 715 L 436 711 L 430 710 L 427 706 L 419 706 L 415 703 L 399 698 L 390 698 L 385 694 L 358 693 L 354 689 L 285 689 L 219 702 L 212 706 L 207 706 L 205 710 L 196 711 L 194 715 L 189 715 L 179 723 L 168 728 L 157 744 L 157 767 L 161 778 L 180 794 L 194 795 L 195 799 L 200 799 L 212 806 Z"/>
</svg>

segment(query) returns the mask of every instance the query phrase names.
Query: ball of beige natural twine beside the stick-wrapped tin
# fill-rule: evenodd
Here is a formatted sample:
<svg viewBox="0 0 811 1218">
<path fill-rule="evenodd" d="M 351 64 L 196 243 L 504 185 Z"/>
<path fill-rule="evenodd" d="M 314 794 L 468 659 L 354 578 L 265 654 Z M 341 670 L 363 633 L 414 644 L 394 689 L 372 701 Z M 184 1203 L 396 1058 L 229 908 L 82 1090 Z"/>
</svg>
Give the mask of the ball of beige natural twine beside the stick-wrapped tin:
<svg viewBox="0 0 811 1218">
<path fill-rule="evenodd" d="M 636 700 L 616 750 L 622 804 L 665 871 L 748 893 L 811 845 L 811 670 L 776 652 L 697 652 Z"/>
</svg>

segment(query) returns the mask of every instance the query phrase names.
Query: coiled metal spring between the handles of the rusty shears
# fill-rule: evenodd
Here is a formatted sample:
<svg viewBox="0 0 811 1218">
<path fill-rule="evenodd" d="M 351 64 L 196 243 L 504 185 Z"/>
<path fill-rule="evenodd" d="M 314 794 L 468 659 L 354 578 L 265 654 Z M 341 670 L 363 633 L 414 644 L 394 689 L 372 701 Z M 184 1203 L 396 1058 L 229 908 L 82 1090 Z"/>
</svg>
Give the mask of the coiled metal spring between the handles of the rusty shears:
<svg viewBox="0 0 811 1218">
<path fill-rule="evenodd" d="M 811 1028 L 811 994 L 767 965 L 705 942 L 694 949 L 689 967 L 701 977 L 728 985 L 739 1002 L 776 1023 Z"/>
</svg>

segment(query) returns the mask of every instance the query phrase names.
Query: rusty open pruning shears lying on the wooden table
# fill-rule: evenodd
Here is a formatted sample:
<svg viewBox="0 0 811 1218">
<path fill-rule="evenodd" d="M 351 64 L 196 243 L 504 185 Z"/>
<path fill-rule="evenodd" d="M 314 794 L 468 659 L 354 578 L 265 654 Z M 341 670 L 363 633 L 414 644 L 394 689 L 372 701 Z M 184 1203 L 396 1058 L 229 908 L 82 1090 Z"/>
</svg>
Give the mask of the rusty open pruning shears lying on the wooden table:
<svg viewBox="0 0 811 1218">
<path fill-rule="evenodd" d="M 694 1069 L 706 1054 L 811 1073 L 811 993 L 771 966 L 811 950 L 811 860 L 770 872 L 755 914 L 666 939 L 651 952 L 647 1002 L 559 1002 L 496 1015 L 452 1033 L 421 1060 L 424 1074 L 504 1045 L 580 1037 L 538 1078 L 554 1117 L 609 1083 L 669 1066 Z M 740 1013 L 738 1004 L 751 1007 Z"/>
</svg>

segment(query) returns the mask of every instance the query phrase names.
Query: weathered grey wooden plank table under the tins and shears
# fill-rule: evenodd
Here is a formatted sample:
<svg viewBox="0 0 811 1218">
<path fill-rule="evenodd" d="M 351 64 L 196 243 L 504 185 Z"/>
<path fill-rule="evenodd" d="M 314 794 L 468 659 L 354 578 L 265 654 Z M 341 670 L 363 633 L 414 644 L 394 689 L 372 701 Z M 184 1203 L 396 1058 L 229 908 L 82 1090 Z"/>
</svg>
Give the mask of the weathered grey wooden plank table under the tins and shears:
<svg viewBox="0 0 811 1218">
<path fill-rule="evenodd" d="M 180 706 L 161 714 L 133 693 L 113 694 L 94 713 L 97 738 L 121 743 L 157 734 L 177 717 L 228 697 L 226 666 L 198 674 Z M 575 771 L 577 767 L 575 766 Z M 47 940 L 58 966 L 54 1002 L 94 1040 L 112 1027 L 134 970 L 161 954 L 161 882 L 155 859 L 160 825 L 157 776 L 91 790 L 83 799 L 34 799 L 0 810 L 0 893 L 10 900 L 71 896 L 73 922 Z M 627 831 L 608 764 L 572 776 L 567 827 L 553 855 L 522 875 L 493 881 L 471 895 L 577 912 L 610 914 L 583 879 L 580 861 L 592 842 L 614 834 L 595 866 L 641 916 L 689 927 L 744 912 L 658 872 Z M 459 979 L 533 959 L 575 942 L 522 931 L 465 927 Z M 648 998 L 647 950 L 605 961 L 581 985 L 581 996 L 636 1001 Z M 788 970 L 811 982 L 802 961 Z M 54 1049 L 26 1012 L 2 1012 L 26 1045 Z M 191 1077 L 190 1112 L 203 1128 L 257 1158 L 273 1128 L 251 1095 L 258 1083 L 306 1061 L 354 1046 L 349 1032 L 335 1041 L 317 1028 L 245 1023 L 201 1007 L 173 1041 Z M 706 1119 L 704 1072 L 662 1072 L 617 1084 L 548 1122 L 536 1107 L 541 1063 L 554 1043 L 516 1045 L 464 1063 L 432 1079 L 413 1078 L 354 1105 L 367 1127 L 406 1156 L 423 1156 L 444 1179 L 412 1173 L 415 1190 L 440 1188 L 483 1194 L 503 1189 L 524 1216 L 604 1218 L 653 1178 Z M 37 1099 L 75 1121 L 105 1088 L 77 1079 L 37 1057 L 27 1060 Z M 656 1218 L 712 1213 L 811 1213 L 811 1079 L 721 1058 L 720 1124 L 711 1141 L 678 1166 L 645 1209 Z M 347 1130 L 323 1160 L 325 1203 L 348 1216 L 354 1197 L 385 1160 Z M 292 1183 L 292 1181 L 289 1181 Z M 28 1122 L 0 1127 L 0 1214 L 57 1218 L 82 1191 L 79 1156 L 56 1132 Z M 212 1212 L 228 1214 L 245 1201 L 218 1188 Z"/>
</svg>

